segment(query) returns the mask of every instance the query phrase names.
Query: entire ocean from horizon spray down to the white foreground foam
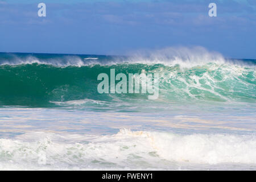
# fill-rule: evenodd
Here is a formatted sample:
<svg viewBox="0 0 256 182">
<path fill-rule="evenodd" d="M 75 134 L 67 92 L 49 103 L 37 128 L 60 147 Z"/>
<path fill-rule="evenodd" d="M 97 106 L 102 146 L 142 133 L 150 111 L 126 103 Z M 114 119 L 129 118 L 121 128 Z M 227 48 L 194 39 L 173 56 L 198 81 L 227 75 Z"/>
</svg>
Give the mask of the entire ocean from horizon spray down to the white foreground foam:
<svg viewBox="0 0 256 182">
<path fill-rule="evenodd" d="M 0 169 L 256 169 L 256 60 L 204 49 L 0 53 Z M 100 73 L 159 73 L 159 97 Z"/>
</svg>

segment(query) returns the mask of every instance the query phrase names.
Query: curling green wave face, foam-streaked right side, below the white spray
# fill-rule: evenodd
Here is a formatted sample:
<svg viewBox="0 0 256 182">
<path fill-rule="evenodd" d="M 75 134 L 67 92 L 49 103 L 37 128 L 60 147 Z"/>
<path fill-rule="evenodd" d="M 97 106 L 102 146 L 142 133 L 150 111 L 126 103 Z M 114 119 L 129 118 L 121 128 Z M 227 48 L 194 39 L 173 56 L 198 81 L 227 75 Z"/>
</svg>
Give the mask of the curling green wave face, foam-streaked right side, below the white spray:
<svg viewBox="0 0 256 182">
<path fill-rule="evenodd" d="M 117 73 L 158 73 L 158 101 L 255 102 L 254 68 L 208 63 L 192 68 L 162 64 L 118 64 L 54 67 L 44 64 L 0 66 L 0 105 L 70 105 L 94 100 L 114 103 L 147 100 L 147 94 L 100 94 L 97 76 L 110 69 Z M 65 104 L 63 104 L 65 102 Z M 87 101 L 86 101 L 87 102 Z M 75 102 L 74 102 L 75 103 Z M 90 102 L 88 102 L 90 103 Z M 85 103 L 86 104 L 86 103 Z M 95 103 L 94 103 L 95 104 Z"/>
</svg>

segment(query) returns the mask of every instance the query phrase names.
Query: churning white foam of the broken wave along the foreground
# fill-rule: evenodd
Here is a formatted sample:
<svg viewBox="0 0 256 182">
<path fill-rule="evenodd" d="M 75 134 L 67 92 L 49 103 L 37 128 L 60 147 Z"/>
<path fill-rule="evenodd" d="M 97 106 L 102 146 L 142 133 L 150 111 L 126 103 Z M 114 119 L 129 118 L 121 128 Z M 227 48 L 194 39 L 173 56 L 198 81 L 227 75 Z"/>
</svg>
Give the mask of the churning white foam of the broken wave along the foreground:
<svg viewBox="0 0 256 182">
<path fill-rule="evenodd" d="M 256 169 L 255 135 L 27 133 L 0 139 L 0 169 Z"/>
</svg>

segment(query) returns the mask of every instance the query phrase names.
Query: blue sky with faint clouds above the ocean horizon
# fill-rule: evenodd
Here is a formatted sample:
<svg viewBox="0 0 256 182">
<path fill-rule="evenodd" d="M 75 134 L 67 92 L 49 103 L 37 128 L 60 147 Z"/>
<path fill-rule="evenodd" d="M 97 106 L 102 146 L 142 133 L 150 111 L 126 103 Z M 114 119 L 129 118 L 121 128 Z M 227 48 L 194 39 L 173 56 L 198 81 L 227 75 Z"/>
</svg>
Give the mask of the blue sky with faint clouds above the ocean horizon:
<svg viewBox="0 0 256 182">
<path fill-rule="evenodd" d="M 47 16 L 38 16 L 38 3 Z M 217 17 L 208 16 L 210 2 Z M 256 0 L 0 0 L 0 52 L 122 55 L 203 46 L 256 59 Z"/>
</svg>

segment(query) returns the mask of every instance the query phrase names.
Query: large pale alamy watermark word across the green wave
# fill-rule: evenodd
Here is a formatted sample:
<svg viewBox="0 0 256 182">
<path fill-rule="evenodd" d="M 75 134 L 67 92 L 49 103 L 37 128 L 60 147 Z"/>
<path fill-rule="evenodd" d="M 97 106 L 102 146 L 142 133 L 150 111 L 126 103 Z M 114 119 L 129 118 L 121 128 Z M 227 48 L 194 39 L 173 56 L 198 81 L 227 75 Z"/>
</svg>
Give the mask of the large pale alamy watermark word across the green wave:
<svg viewBox="0 0 256 182">
<path fill-rule="evenodd" d="M 159 96 L 159 74 L 154 73 L 129 73 L 128 80 L 124 73 L 118 73 L 115 76 L 115 69 L 110 69 L 109 76 L 106 73 L 100 73 L 97 80 L 101 80 L 98 84 L 98 93 L 129 93 L 129 94 L 150 94 L 148 100 L 155 100 Z M 117 84 L 115 84 L 115 81 Z M 110 82 L 110 85 L 109 85 Z M 154 83 L 154 84 L 153 84 Z M 128 85 L 127 85 L 128 84 Z"/>
</svg>

